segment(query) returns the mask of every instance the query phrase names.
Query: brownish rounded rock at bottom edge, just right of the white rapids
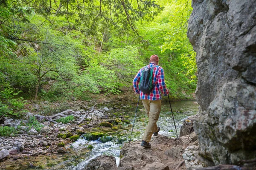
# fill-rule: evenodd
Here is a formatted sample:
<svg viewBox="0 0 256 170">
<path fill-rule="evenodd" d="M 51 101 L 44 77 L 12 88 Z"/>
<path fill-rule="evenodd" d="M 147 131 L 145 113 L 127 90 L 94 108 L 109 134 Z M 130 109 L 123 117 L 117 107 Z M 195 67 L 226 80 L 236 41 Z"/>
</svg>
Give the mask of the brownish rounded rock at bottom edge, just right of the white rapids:
<svg viewBox="0 0 256 170">
<path fill-rule="evenodd" d="M 83 170 L 117 170 L 114 156 L 101 155 L 89 161 Z"/>
</svg>

